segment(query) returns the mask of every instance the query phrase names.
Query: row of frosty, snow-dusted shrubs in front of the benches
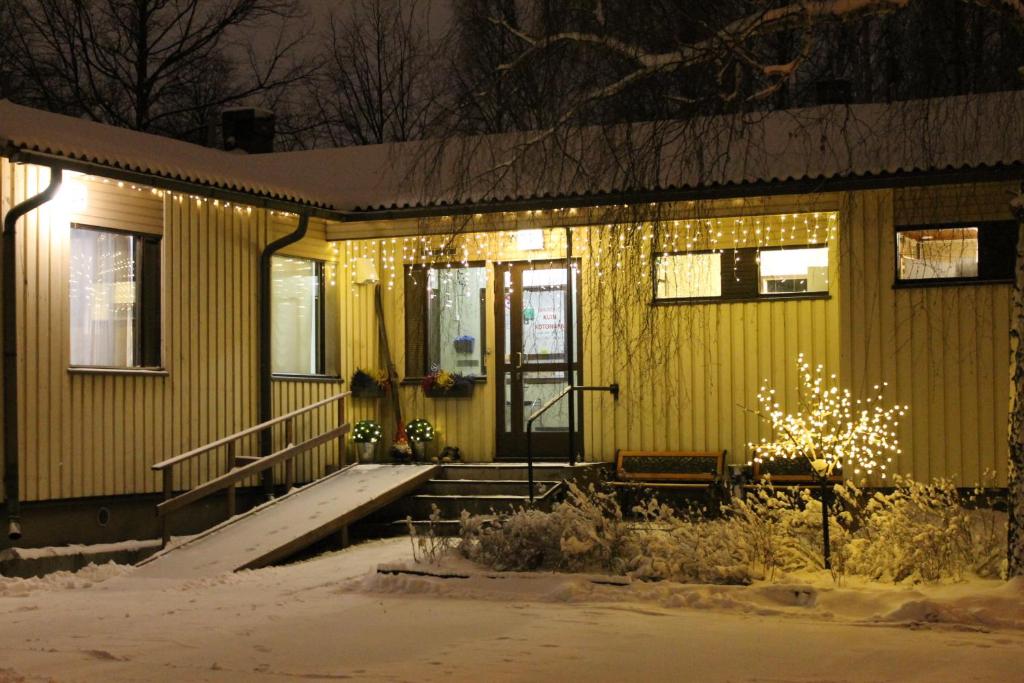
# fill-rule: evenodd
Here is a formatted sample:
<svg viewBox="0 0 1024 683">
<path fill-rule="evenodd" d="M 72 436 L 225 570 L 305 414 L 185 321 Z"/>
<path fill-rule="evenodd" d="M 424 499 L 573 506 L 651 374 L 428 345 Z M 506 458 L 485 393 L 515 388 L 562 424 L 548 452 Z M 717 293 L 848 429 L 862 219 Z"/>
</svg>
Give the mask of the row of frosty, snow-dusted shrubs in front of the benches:
<svg viewBox="0 0 1024 683">
<path fill-rule="evenodd" d="M 896 478 L 892 493 L 866 496 L 839 484 L 829 503 L 833 575 L 938 582 L 1006 571 L 1006 516 L 962 500 L 948 481 Z M 569 486 L 550 513 L 504 518 L 463 515 L 460 551 L 500 571 L 600 571 L 644 580 L 749 584 L 824 566 L 821 502 L 807 489 L 770 482 L 744 500 L 680 513 L 650 500 L 626 519 L 613 494 Z"/>
</svg>

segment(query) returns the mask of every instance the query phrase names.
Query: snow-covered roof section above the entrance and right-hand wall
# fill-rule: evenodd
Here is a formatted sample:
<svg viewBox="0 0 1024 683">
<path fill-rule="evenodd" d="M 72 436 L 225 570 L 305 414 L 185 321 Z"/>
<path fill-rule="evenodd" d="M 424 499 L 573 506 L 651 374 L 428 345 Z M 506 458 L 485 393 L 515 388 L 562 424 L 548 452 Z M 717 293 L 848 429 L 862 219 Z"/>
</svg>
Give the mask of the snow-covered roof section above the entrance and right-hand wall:
<svg viewBox="0 0 1024 683">
<path fill-rule="evenodd" d="M 614 198 L 1024 164 L 1024 92 L 269 155 L 331 206 Z M 358 173 L 346 173 L 356 168 Z M 344 178 L 343 181 L 339 181 Z"/>
</svg>

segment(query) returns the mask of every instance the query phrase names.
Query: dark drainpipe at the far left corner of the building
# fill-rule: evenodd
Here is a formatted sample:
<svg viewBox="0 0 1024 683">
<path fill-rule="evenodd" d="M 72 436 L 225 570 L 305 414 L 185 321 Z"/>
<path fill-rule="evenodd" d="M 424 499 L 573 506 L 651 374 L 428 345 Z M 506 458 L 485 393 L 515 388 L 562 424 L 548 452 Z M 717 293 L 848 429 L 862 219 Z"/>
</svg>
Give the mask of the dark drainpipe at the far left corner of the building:
<svg viewBox="0 0 1024 683">
<path fill-rule="evenodd" d="M 7 537 L 22 538 L 22 500 L 18 492 L 17 458 L 17 278 L 15 228 L 17 219 L 53 199 L 60 188 L 63 171 L 50 168 L 50 184 L 7 212 L 3 220 L 3 489 L 7 511 Z"/>
</svg>

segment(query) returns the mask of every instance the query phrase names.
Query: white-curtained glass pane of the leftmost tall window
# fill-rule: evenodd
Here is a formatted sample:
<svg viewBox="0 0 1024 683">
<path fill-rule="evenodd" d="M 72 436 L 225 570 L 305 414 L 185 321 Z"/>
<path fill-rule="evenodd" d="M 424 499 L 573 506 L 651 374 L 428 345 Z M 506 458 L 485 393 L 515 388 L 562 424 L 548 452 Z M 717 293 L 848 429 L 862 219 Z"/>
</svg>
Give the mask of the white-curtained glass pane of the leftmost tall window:
<svg viewBox="0 0 1024 683">
<path fill-rule="evenodd" d="M 135 239 L 102 230 L 71 231 L 71 364 L 135 365 Z"/>
</svg>

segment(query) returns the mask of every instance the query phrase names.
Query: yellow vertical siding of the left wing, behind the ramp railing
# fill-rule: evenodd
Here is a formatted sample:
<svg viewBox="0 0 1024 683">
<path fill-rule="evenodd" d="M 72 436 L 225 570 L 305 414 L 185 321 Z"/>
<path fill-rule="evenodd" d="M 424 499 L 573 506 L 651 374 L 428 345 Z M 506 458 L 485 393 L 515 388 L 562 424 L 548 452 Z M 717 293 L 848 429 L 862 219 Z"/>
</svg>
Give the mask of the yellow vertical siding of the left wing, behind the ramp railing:
<svg viewBox="0 0 1024 683">
<path fill-rule="evenodd" d="M 5 210 L 45 186 L 45 169 L 6 160 L 2 168 Z M 123 213 L 113 208 L 122 205 Z M 263 210 L 116 183 L 95 196 L 90 191 L 81 213 L 88 214 L 84 221 L 144 231 L 153 231 L 154 215 L 162 217 L 166 375 L 68 371 L 69 221 L 76 216 L 53 202 L 23 218 L 18 409 L 27 501 L 156 492 L 153 463 L 256 422 L 257 259 L 268 240 L 295 222 Z M 333 260 L 335 250 L 323 233 L 322 223 L 311 225 L 310 236 L 286 253 Z M 338 382 L 275 381 L 274 413 L 340 390 Z M 298 434 L 334 424 L 334 415 L 308 418 Z M 279 443 L 282 436 L 275 436 Z M 255 447 L 255 441 L 248 444 Z M 336 457 L 334 443 L 305 456 L 300 478 L 319 476 Z M 181 468 L 177 484 L 222 471 L 223 458 L 216 454 Z"/>
</svg>

